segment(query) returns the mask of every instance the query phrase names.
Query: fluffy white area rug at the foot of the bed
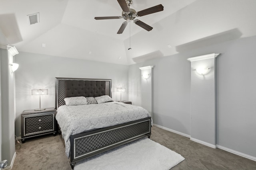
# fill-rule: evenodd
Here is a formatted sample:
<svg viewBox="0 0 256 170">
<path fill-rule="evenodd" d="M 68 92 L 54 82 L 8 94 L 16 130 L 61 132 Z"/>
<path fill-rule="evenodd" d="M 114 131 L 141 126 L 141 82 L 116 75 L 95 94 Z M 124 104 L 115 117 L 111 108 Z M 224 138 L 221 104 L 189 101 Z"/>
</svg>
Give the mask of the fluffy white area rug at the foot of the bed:
<svg viewBox="0 0 256 170">
<path fill-rule="evenodd" d="M 185 158 L 148 138 L 77 162 L 74 170 L 169 170 Z"/>
</svg>

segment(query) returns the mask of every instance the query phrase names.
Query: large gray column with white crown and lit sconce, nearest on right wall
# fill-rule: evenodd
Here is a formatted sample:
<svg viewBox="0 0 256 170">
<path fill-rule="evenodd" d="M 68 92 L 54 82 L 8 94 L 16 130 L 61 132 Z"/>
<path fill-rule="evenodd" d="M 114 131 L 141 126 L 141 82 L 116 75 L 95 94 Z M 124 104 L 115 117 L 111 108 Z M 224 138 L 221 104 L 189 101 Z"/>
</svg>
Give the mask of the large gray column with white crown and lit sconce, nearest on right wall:
<svg viewBox="0 0 256 170">
<path fill-rule="evenodd" d="M 216 57 L 218 53 L 189 58 L 191 62 L 190 139 L 216 148 Z"/>
</svg>

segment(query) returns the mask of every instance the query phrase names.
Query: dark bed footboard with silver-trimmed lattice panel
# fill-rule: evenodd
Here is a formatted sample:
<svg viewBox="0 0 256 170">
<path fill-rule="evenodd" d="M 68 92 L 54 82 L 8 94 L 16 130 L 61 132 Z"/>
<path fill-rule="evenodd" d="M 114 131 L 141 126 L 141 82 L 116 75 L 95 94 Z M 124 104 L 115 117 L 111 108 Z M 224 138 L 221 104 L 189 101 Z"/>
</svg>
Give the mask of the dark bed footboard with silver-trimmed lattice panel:
<svg viewBox="0 0 256 170">
<path fill-rule="evenodd" d="M 70 165 L 106 150 L 151 135 L 151 117 L 70 136 Z"/>
</svg>

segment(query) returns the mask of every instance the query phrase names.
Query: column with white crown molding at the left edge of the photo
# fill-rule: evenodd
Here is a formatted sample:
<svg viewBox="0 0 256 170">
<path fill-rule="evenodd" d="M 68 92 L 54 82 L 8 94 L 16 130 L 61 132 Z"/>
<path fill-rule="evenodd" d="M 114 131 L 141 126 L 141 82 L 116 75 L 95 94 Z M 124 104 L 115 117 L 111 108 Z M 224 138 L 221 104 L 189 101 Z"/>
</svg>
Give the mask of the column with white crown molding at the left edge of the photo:
<svg viewBox="0 0 256 170">
<path fill-rule="evenodd" d="M 11 169 L 15 152 L 15 78 L 10 64 L 13 56 L 18 54 L 12 45 L 0 44 L 0 126 L 2 129 L 1 152 L 2 160 L 8 160 L 6 169 Z M 0 138 L 1 139 L 1 138 Z"/>
</svg>

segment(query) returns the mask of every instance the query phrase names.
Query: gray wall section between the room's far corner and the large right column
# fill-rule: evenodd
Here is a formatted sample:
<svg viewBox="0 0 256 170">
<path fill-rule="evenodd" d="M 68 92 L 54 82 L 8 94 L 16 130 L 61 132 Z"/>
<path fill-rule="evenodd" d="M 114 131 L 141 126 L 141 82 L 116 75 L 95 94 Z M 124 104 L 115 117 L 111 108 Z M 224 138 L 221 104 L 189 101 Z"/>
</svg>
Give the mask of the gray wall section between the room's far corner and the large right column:
<svg viewBox="0 0 256 170">
<path fill-rule="evenodd" d="M 173 55 L 129 66 L 129 100 L 141 106 L 141 70 L 153 71 L 153 122 L 190 135 L 190 62 L 187 56 Z M 136 89 L 136 87 L 139 87 Z M 132 90 L 132 91 L 131 91 Z"/>
</svg>

